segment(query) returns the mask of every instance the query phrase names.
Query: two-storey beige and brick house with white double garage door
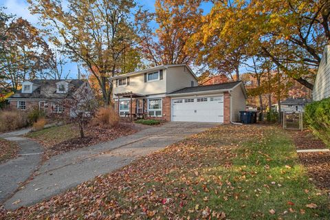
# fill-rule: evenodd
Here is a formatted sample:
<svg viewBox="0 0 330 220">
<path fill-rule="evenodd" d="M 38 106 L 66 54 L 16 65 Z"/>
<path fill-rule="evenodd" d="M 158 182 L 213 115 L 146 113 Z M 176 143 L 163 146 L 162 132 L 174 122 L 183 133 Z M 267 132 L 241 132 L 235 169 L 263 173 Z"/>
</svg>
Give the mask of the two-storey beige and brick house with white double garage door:
<svg viewBox="0 0 330 220">
<path fill-rule="evenodd" d="M 115 110 L 167 121 L 239 121 L 247 98 L 241 81 L 198 86 L 187 65 L 161 65 L 111 78 Z M 119 101 L 119 102 L 118 102 Z"/>
</svg>

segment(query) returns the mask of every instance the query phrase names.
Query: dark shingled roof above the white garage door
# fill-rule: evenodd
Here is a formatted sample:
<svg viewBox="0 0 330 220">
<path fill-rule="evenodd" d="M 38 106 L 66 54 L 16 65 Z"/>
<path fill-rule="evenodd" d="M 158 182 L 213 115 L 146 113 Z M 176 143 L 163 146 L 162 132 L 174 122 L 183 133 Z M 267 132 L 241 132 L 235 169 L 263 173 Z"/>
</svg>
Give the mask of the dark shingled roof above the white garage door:
<svg viewBox="0 0 330 220">
<path fill-rule="evenodd" d="M 197 87 L 186 87 L 184 89 L 179 89 L 177 91 L 173 91 L 170 94 L 188 94 L 198 91 L 212 91 L 212 90 L 230 90 L 234 88 L 236 85 L 239 85 L 241 81 L 230 82 L 230 83 L 220 83 L 214 85 L 199 85 Z"/>
</svg>

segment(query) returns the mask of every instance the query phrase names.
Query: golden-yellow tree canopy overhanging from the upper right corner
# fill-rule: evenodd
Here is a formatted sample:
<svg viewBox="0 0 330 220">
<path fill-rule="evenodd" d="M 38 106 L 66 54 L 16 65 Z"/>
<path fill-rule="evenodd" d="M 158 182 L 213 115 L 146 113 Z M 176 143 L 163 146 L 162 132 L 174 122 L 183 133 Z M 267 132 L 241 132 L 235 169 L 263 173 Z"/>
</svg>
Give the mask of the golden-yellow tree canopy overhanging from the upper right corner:
<svg viewBox="0 0 330 220">
<path fill-rule="evenodd" d="M 205 18 L 212 22 L 204 22 L 200 34 L 225 42 L 226 54 L 243 45 L 248 56 L 270 58 L 284 74 L 313 89 L 308 77 L 330 43 L 329 16 L 330 2 L 324 0 L 217 1 Z"/>
</svg>

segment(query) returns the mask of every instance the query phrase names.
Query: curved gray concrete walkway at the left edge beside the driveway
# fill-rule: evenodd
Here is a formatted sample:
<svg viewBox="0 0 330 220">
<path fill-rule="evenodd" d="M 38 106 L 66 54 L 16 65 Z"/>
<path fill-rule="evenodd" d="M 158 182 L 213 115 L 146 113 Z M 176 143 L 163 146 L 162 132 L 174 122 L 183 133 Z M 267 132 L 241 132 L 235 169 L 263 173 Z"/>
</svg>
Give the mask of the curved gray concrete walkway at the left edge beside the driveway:
<svg viewBox="0 0 330 220">
<path fill-rule="evenodd" d="M 0 203 L 14 195 L 21 183 L 34 173 L 41 162 L 42 146 L 28 138 L 18 137 L 28 131 L 30 129 L 0 135 L 5 140 L 17 142 L 20 148 L 18 157 L 0 164 Z"/>
</svg>

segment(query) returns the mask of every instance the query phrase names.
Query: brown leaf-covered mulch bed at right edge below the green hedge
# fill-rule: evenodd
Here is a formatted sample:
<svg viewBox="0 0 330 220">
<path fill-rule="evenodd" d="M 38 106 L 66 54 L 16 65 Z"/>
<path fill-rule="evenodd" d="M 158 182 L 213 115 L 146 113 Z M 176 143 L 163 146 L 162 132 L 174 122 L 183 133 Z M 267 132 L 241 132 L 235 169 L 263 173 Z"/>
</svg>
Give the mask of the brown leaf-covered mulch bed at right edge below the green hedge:
<svg viewBox="0 0 330 220">
<path fill-rule="evenodd" d="M 309 130 L 290 131 L 297 150 L 327 148 Z M 300 162 L 319 188 L 330 190 L 330 152 L 298 153 Z"/>
</svg>

